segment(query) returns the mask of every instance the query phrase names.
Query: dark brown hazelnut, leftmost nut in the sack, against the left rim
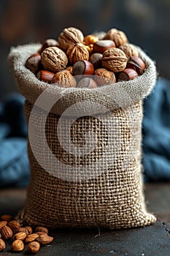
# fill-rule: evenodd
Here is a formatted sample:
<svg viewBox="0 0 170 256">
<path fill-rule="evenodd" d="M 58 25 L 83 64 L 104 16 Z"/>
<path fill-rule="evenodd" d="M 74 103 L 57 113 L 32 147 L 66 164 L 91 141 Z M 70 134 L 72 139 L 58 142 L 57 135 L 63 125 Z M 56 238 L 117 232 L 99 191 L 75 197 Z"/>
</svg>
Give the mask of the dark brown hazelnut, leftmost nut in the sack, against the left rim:
<svg viewBox="0 0 170 256">
<path fill-rule="evenodd" d="M 31 72 L 38 72 L 42 67 L 41 63 L 41 55 L 39 53 L 34 53 L 28 57 L 26 60 L 27 69 L 31 70 Z"/>
</svg>

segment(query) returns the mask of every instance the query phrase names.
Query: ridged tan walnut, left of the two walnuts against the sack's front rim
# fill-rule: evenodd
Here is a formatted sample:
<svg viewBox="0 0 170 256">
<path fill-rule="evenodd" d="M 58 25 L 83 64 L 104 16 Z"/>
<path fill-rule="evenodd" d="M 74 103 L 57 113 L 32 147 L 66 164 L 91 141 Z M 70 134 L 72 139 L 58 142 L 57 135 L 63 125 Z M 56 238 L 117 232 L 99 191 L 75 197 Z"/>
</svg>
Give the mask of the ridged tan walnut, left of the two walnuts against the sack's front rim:
<svg viewBox="0 0 170 256">
<path fill-rule="evenodd" d="M 69 70 L 63 70 L 60 72 L 57 72 L 51 83 L 57 83 L 60 87 L 76 87 L 76 80 L 72 76 L 71 72 Z"/>
</svg>

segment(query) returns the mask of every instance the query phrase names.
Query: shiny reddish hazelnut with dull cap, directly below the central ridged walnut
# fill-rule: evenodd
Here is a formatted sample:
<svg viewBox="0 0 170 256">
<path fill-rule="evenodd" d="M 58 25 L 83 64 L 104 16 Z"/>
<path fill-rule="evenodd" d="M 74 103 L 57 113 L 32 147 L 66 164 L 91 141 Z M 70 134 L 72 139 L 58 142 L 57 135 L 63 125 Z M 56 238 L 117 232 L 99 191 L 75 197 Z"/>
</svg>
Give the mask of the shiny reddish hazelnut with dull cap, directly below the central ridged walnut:
<svg viewBox="0 0 170 256">
<path fill-rule="evenodd" d="M 73 65 L 73 74 L 74 75 L 93 75 L 94 67 L 90 61 L 77 61 Z"/>
</svg>

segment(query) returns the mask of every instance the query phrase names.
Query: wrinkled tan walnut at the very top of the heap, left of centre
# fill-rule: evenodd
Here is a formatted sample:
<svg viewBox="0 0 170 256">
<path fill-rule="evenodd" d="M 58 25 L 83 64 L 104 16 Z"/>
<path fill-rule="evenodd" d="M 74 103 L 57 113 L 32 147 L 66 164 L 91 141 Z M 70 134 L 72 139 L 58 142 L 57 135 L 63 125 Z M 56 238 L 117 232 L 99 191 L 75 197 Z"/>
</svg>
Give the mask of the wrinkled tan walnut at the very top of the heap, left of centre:
<svg viewBox="0 0 170 256">
<path fill-rule="evenodd" d="M 82 42 L 84 36 L 80 29 L 76 29 L 73 27 L 69 27 L 67 29 L 63 29 L 61 34 L 58 37 L 58 42 L 63 50 L 67 50 L 70 45 L 75 44 L 77 42 Z"/>
</svg>

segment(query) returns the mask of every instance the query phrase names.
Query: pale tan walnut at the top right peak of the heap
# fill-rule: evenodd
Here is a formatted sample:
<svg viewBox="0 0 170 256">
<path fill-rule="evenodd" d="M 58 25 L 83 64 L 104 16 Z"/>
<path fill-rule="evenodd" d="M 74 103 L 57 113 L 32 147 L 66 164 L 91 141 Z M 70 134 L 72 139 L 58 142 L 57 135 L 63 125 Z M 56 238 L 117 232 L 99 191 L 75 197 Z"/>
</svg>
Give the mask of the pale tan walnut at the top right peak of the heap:
<svg viewBox="0 0 170 256">
<path fill-rule="evenodd" d="M 124 45 L 126 42 L 128 42 L 128 38 L 126 37 L 125 33 L 117 29 L 110 29 L 105 35 L 104 39 L 113 40 L 116 47 L 120 47 L 120 45 Z"/>
</svg>

